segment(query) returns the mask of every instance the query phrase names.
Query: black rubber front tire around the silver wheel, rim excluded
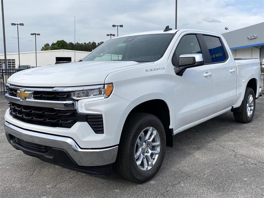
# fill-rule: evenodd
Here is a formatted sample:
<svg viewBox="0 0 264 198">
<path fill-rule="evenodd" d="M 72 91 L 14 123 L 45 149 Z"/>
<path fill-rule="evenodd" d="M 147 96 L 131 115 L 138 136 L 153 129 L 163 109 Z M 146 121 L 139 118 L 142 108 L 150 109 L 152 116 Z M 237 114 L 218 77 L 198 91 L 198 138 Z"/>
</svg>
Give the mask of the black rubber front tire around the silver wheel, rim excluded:
<svg viewBox="0 0 264 198">
<path fill-rule="evenodd" d="M 150 170 L 142 171 L 136 165 L 136 161 L 134 159 L 134 149 L 135 149 L 135 144 L 136 144 L 139 134 L 142 132 L 142 130 L 144 130 L 147 127 L 155 128 L 160 136 L 160 154 L 158 155 L 158 159 L 156 163 Z M 155 118 L 155 116 L 153 116 L 153 118 L 148 118 L 144 120 L 143 122 L 141 122 L 136 128 L 135 133 L 130 142 L 129 164 L 130 164 L 130 168 L 131 168 L 131 171 L 134 177 L 136 177 L 136 179 L 142 182 L 148 181 L 152 177 L 154 177 L 155 174 L 160 169 L 160 166 L 162 164 L 164 153 L 165 153 L 165 148 L 166 148 L 166 136 L 165 136 L 164 127 L 162 123 L 160 122 L 160 120 L 158 118 Z"/>
</svg>

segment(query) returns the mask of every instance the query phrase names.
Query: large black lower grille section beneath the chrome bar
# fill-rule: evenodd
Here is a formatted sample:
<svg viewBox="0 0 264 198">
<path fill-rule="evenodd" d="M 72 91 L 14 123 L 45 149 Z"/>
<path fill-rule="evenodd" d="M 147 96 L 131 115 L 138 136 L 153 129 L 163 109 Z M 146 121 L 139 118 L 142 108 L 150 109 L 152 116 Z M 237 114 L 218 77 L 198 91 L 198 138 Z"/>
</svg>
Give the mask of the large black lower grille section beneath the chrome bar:
<svg viewBox="0 0 264 198">
<path fill-rule="evenodd" d="M 14 102 L 8 105 L 13 118 L 30 124 L 71 128 L 76 122 L 86 122 L 86 114 L 78 114 L 76 110 L 26 106 Z"/>
</svg>

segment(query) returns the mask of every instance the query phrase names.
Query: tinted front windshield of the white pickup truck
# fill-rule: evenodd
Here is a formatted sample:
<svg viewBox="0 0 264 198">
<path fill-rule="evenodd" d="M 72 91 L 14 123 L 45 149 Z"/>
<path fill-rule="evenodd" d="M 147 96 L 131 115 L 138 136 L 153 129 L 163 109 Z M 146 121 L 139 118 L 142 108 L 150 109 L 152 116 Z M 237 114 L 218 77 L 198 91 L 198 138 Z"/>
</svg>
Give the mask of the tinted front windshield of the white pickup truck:
<svg viewBox="0 0 264 198">
<path fill-rule="evenodd" d="M 136 35 L 110 39 L 82 61 L 128 60 L 154 62 L 165 53 L 175 34 Z"/>
</svg>

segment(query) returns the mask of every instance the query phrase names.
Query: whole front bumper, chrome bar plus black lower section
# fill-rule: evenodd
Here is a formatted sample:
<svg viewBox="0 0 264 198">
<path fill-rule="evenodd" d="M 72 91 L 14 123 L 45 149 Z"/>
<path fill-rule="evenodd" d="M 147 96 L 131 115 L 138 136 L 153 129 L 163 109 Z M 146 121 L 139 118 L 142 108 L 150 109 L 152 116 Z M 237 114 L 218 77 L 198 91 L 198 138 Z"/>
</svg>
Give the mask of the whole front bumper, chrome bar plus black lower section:
<svg viewBox="0 0 264 198">
<path fill-rule="evenodd" d="M 22 150 L 27 155 L 38 157 L 50 163 L 56 163 L 72 169 L 87 169 L 94 166 L 109 165 L 116 160 L 118 146 L 102 149 L 82 149 L 69 137 L 34 132 L 19 128 L 8 122 L 5 122 L 4 128 L 7 140 L 14 148 Z M 43 153 L 34 151 L 28 147 L 25 148 L 17 144 L 15 138 L 19 138 L 26 143 L 45 146 L 48 151 L 47 153 Z M 65 162 L 65 158 L 68 158 L 72 164 Z"/>
</svg>

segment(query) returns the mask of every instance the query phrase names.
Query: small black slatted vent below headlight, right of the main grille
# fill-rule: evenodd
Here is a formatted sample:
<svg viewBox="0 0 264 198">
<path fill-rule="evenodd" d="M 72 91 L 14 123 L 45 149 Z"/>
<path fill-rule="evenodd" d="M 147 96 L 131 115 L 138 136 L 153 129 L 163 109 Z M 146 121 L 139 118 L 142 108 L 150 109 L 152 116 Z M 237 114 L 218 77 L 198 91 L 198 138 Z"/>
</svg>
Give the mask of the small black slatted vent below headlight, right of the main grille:
<svg viewBox="0 0 264 198">
<path fill-rule="evenodd" d="M 104 133 L 104 122 L 102 114 L 87 114 L 87 122 L 95 133 Z"/>
</svg>

